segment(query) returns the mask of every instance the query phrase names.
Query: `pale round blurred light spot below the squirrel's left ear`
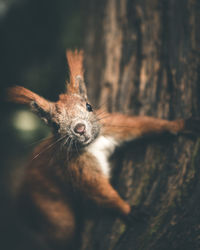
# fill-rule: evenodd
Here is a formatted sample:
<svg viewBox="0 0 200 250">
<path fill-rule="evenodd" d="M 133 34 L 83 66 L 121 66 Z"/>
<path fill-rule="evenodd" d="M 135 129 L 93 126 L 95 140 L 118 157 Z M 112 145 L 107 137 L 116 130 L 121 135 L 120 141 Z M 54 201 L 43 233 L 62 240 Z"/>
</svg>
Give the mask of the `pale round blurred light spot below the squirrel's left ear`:
<svg viewBox="0 0 200 250">
<path fill-rule="evenodd" d="M 31 112 L 21 110 L 14 114 L 13 125 L 18 130 L 31 132 L 39 128 L 39 121 Z"/>
</svg>

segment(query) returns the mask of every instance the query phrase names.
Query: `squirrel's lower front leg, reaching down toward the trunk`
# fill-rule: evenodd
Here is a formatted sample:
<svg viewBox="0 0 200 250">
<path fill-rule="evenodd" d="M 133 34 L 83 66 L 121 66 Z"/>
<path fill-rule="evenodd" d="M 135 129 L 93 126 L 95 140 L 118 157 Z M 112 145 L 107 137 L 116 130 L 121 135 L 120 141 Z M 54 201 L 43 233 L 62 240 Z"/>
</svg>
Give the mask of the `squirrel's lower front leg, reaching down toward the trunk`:
<svg viewBox="0 0 200 250">
<path fill-rule="evenodd" d="M 86 153 L 76 160 L 72 166 L 75 171 L 77 185 L 81 198 L 90 200 L 101 209 L 126 218 L 131 212 L 131 206 L 124 201 L 117 191 L 109 183 L 109 179 L 100 171 L 97 161 L 93 156 Z"/>
</svg>

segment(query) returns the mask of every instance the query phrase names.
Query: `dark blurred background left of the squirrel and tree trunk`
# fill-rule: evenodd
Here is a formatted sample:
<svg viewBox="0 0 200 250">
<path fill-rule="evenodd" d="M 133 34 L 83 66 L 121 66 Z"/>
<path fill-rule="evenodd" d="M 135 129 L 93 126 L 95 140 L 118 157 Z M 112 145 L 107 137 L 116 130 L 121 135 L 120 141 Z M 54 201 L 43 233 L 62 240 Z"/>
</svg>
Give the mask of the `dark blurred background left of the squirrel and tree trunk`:
<svg viewBox="0 0 200 250">
<path fill-rule="evenodd" d="M 0 0 L 0 249 L 20 248 L 12 196 L 29 153 L 49 133 L 26 107 L 7 103 L 5 90 L 22 85 L 56 100 L 66 49 L 83 46 L 83 16 L 79 0 Z"/>
</svg>

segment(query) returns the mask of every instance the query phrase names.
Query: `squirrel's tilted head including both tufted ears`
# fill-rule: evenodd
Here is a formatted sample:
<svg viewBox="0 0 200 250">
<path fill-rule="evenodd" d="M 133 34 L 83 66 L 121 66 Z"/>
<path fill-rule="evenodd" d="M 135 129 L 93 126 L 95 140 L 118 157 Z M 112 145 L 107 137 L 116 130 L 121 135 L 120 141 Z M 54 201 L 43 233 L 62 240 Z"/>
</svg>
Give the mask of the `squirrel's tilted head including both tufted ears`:
<svg viewBox="0 0 200 250">
<path fill-rule="evenodd" d="M 8 90 L 9 100 L 28 104 L 42 120 L 53 128 L 63 144 L 86 146 L 99 134 L 100 125 L 87 99 L 83 76 L 83 51 L 67 51 L 70 81 L 67 91 L 57 102 L 50 102 L 32 91 L 16 86 Z"/>
</svg>

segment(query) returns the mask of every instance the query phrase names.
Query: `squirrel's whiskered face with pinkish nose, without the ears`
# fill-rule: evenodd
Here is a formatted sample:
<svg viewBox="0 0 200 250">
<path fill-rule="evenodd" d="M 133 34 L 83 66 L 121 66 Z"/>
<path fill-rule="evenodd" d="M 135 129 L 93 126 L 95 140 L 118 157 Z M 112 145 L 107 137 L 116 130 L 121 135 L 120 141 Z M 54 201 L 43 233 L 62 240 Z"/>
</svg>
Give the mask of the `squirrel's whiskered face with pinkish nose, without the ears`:
<svg viewBox="0 0 200 250">
<path fill-rule="evenodd" d="M 87 146 L 98 136 L 100 125 L 92 106 L 79 95 L 61 95 L 52 114 L 54 132 L 63 144 Z"/>
</svg>

